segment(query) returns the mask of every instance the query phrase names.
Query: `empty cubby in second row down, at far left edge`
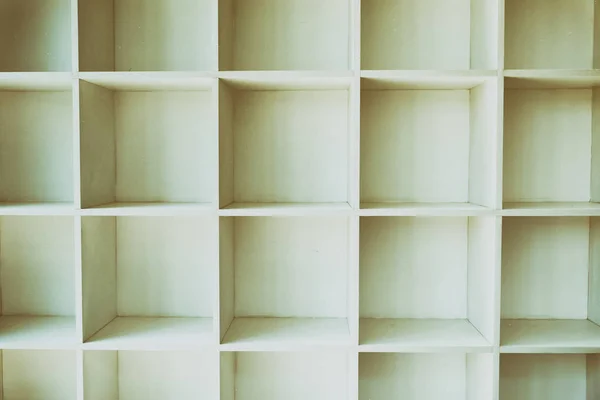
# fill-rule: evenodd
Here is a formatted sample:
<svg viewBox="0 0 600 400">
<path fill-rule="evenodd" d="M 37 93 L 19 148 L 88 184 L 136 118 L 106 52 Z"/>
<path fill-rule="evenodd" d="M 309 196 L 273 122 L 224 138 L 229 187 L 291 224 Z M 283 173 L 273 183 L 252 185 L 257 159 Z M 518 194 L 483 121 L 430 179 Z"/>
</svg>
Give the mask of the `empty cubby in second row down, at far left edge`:
<svg viewBox="0 0 600 400">
<path fill-rule="evenodd" d="M 39 203 L 45 212 L 73 209 L 70 86 L 70 79 L 46 87 L 0 84 L 0 214 Z"/>
</svg>

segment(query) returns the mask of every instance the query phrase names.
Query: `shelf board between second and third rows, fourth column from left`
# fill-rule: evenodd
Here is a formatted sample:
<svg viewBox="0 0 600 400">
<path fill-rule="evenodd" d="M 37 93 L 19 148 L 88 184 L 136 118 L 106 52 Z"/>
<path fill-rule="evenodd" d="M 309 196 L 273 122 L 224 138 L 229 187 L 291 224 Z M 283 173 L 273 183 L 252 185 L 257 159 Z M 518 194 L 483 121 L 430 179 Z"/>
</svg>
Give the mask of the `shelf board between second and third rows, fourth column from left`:
<svg viewBox="0 0 600 400">
<path fill-rule="evenodd" d="M 471 203 L 361 203 L 361 216 L 477 216 L 494 210 Z"/>
</svg>

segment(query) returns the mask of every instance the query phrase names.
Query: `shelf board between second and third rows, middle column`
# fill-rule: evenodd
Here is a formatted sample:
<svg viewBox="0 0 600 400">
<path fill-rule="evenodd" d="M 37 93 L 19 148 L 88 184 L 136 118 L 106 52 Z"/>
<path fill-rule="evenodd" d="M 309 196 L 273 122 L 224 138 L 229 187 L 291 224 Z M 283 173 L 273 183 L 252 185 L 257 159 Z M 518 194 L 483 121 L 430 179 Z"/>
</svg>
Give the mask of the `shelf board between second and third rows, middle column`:
<svg viewBox="0 0 600 400">
<path fill-rule="evenodd" d="M 221 216 L 350 215 L 348 203 L 232 203 L 219 210 Z"/>
</svg>

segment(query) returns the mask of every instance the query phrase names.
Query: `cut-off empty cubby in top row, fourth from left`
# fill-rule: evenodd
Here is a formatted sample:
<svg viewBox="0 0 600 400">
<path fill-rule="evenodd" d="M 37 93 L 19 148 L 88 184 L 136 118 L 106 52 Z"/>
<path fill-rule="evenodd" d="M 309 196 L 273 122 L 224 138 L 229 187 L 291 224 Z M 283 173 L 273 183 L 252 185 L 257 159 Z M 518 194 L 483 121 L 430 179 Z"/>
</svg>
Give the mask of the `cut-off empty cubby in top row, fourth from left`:
<svg viewBox="0 0 600 400">
<path fill-rule="evenodd" d="M 496 69 L 498 0 L 363 0 L 361 69 Z"/>
</svg>

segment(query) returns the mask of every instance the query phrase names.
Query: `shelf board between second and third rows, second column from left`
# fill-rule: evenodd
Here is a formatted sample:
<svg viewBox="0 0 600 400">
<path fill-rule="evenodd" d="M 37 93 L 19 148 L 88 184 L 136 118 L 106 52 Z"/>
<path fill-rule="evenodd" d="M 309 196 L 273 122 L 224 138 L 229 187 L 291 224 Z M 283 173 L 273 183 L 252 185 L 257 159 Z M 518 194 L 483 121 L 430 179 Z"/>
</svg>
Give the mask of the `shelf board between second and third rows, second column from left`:
<svg viewBox="0 0 600 400">
<path fill-rule="evenodd" d="M 84 208 L 81 215 L 97 216 L 177 216 L 207 215 L 216 212 L 211 203 L 125 203 L 116 202 Z"/>
</svg>

